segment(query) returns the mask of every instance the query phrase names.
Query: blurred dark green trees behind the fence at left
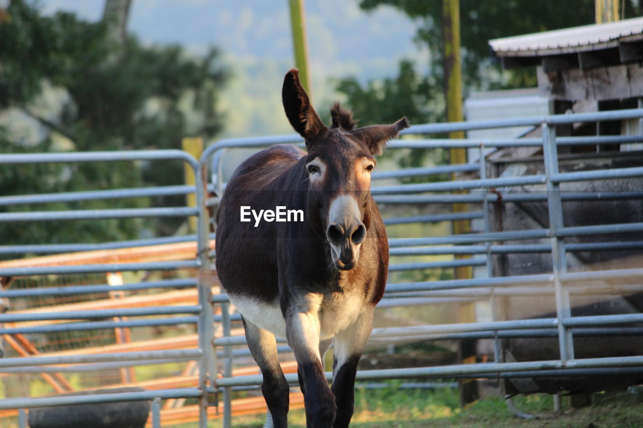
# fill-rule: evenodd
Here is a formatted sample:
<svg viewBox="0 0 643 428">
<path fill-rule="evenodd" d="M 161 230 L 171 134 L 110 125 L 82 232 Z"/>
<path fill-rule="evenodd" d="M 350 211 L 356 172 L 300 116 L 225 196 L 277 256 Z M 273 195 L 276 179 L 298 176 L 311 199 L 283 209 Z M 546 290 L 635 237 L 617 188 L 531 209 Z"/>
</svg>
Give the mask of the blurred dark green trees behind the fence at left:
<svg viewBox="0 0 643 428">
<path fill-rule="evenodd" d="M 11 132 L 0 132 L 2 152 L 180 148 L 186 135 L 212 138 L 221 130 L 222 114 L 216 102 L 227 73 L 219 51 L 211 48 L 202 57 L 192 57 L 180 46 L 143 46 L 132 35 L 122 44 L 114 42 L 117 39 L 110 37 L 110 25 L 124 29 L 122 12 L 126 19 L 127 11 L 116 8 L 113 13 L 121 18 L 113 20 L 113 13 L 108 12 L 113 1 L 105 4 L 102 22 L 82 21 L 64 12 L 43 16 L 35 4 L 24 0 L 13 0 L 0 13 L 0 113 L 23 112 L 48 130 L 42 141 L 31 147 L 25 147 Z M 129 6 L 129 1 L 116 0 L 119 2 Z M 43 98 L 55 98 L 59 114 L 42 108 Z M 0 195 L 158 186 L 183 180 L 183 163 L 179 161 L 133 165 L 3 166 Z M 149 204 L 125 199 L 57 209 Z M 183 205 L 185 198 L 159 198 L 152 204 Z M 1 209 L 41 210 L 42 206 Z M 97 242 L 136 238 L 144 224 L 152 233 L 171 235 L 183 220 L 164 219 L 156 224 L 123 220 L 118 227 L 113 222 L 95 222 L 100 226 L 91 227 L 100 227 L 100 231 L 73 222 L 74 227 L 64 235 L 60 225 L 39 225 L 37 236 L 1 228 L 0 241 L 35 244 L 55 239 Z"/>
</svg>

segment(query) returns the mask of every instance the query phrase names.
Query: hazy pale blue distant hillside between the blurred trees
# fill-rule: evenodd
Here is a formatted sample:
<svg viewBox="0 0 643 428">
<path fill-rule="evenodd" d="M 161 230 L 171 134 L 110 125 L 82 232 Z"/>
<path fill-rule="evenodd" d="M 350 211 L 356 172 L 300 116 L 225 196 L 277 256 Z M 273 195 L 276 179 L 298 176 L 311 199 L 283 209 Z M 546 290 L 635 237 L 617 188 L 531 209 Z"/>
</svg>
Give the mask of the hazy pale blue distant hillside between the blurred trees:
<svg viewBox="0 0 643 428">
<path fill-rule="evenodd" d="M 45 13 L 100 19 L 104 0 L 40 0 Z M 134 0 L 128 30 L 144 42 L 178 43 L 194 53 L 214 44 L 231 64 L 222 96 L 224 136 L 292 132 L 280 106 L 282 78 L 294 64 L 287 0 Z M 428 53 L 413 43 L 415 24 L 394 8 L 365 13 L 356 0 L 305 2 L 316 107 L 328 107 L 333 78 L 392 76 L 403 57 L 426 69 Z"/>
</svg>

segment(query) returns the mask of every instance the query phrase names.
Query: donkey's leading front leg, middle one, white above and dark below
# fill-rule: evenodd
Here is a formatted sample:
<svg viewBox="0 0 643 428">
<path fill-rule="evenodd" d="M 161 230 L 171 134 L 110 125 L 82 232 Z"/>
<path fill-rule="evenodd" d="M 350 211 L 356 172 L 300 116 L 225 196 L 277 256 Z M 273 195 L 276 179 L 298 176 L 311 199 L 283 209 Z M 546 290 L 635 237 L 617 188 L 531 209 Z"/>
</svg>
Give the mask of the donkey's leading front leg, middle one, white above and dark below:
<svg viewBox="0 0 643 428">
<path fill-rule="evenodd" d="M 286 336 L 297 359 L 297 369 L 305 391 L 306 424 L 330 428 L 335 420 L 335 396 L 326 380 L 320 355 L 321 299 L 309 295 L 291 304 L 286 312 Z"/>
</svg>

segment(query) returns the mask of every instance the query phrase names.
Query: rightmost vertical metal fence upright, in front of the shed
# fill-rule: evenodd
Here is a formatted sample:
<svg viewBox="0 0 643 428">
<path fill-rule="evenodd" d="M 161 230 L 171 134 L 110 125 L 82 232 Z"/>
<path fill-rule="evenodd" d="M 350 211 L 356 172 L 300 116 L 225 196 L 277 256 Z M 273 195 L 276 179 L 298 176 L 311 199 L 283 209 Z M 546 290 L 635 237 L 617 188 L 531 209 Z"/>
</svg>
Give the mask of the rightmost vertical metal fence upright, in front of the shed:
<svg viewBox="0 0 643 428">
<path fill-rule="evenodd" d="M 552 265 L 554 271 L 554 288 L 556 290 L 556 317 L 558 320 L 558 343 L 563 364 L 574 359 L 574 339 L 569 328 L 563 325 L 562 319 L 570 317 L 569 292 L 563 286 L 560 275 L 567 271 L 565 259 L 565 242 L 556 236 L 556 231 L 563 227 L 563 203 L 560 185 L 552 183 L 551 177 L 558 174 L 558 150 L 556 147 L 556 126 L 543 122 L 543 155 L 545 161 L 545 178 L 547 180 L 547 206 L 549 212 L 550 242 L 552 245 Z"/>
</svg>

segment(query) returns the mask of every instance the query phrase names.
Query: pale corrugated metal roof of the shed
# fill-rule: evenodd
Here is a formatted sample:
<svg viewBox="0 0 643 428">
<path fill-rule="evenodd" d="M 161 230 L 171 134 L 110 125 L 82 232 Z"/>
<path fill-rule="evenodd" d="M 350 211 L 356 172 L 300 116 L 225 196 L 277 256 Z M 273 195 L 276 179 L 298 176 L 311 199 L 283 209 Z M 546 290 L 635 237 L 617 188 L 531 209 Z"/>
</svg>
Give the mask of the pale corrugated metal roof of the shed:
<svg viewBox="0 0 643 428">
<path fill-rule="evenodd" d="M 640 39 L 643 17 L 504 37 L 489 40 L 489 46 L 500 57 L 526 57 L 608 49 L 618 46 L 619 41 Z"/>
</svg>

